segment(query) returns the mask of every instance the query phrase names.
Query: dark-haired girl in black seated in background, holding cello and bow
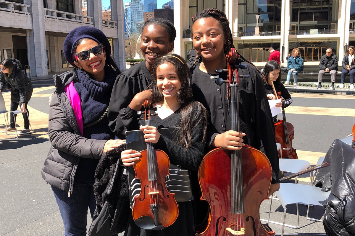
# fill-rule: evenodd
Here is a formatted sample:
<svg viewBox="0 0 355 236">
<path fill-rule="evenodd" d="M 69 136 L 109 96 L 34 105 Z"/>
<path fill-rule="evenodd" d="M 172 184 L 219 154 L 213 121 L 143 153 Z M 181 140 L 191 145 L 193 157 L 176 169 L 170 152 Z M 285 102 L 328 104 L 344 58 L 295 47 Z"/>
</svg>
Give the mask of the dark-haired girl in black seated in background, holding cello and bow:
<svg viewBox="0 0 355 236">
<path fill-rule="evenodd" d="M 267 84 L 265 83 L 264 86 L 266 96 L 269 99 L 278 99 L 275 97 L 274 89 L 271 85 L 271 81 L 273 81 L 277 95 L 283 98 L 282 102 L 276 104 L 276 107 L 286 108 L 292 103 L 292 98 L 285 86 L 281 83 L 280 71 L 280 65 L 276 61 L 269 61 L 266 63 L 263 70 L 263 76 L 267 80 Z M 276 118 L 277 116 L 274 117 L 274 122 L 276 122 Z"/>
</svg>

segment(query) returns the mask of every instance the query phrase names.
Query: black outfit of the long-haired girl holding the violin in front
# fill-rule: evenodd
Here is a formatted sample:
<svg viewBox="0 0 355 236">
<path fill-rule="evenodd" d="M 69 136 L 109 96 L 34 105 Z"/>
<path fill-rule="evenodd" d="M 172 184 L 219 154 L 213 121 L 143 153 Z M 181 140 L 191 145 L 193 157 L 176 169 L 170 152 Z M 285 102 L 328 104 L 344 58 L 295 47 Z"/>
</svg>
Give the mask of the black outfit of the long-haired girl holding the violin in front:
<svg viewBox="0 0 355 236">
<path fill-rule="evenodd" d="M 197 104 L 194 104 L 197 105 Z M 191 120 L 197 114 L 197 109 L 193 109 L 190 115 Z M 159 116 L 152 116 L 151 126 L 157 128 L 172 128 L 180 125 L 181 113 L 180 109 L 170 116 L 161 119 Z M 140 121 L 140 125 L 145 125 L 144 121 Z M 194 125 L 192 124 L 192 127 Z M 175 134 L 177 137 L 177 134 Z M 170 162 L 180 165 L 183 168 L 190 169 L 191 172 L 197 171 L 203 158 L 205 143 L 203 141 L 203 127 L 199 125 L 191 132 L 193 143 L 189 148 L 185 149 L 164 134 L 160 135 L 158 142 L 154 145 L 155 149 L 160 149 L 168 154 Z M 174 140 L 176 140 L 174 138 Z M 196 173 L 195 173 L 196 175 Z M 195 191 L 194 191 L 195 192 Z M 197 196 L 194 194 L 194 198 Z M 163 230 L 144 230 L 139 228 L 130 215 L 124 236 L 195 236 L 195 206 L 194 201 L 179 202 L 179 216 L 174 224 Z"/>
</svg>

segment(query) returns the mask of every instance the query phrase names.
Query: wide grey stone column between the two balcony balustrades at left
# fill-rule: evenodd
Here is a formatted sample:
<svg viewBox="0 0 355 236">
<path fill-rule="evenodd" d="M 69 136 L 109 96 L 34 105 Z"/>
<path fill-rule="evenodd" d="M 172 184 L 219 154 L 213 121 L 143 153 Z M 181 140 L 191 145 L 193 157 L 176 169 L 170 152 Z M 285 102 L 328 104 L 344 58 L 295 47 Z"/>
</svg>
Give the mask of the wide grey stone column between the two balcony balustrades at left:
<svg viewBox="0 0 355 236">
<path fill-rule="evenodd" d="M 43 1 L 32 0 L 31 11 L 33 30 L 26 30 L 28 64 L 31 76 L 46 76 L 48 71 Z"/>
</svg>

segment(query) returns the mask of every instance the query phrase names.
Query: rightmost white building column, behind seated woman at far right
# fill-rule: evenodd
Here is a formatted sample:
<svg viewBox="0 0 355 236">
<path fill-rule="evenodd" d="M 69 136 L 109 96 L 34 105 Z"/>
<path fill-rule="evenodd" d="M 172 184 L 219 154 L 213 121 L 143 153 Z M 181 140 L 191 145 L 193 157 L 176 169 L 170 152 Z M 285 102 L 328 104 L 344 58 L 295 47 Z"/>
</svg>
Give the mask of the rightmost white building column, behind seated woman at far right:
<svg viewBox="0 0 355 236">
<path fill-rule="evenodd" d="M 350 1 L 340 0 L 339 1 L 339 21 L 338 29 L 344 29 L 340 32 L 339 39 L 339 61 L 343 59 L 346 49 L 344 49 L 345 44 L 349 47 L 349 24 L 350 24 Z M 341 65 L 341 62 L 339 63 Z"/>
</svg>

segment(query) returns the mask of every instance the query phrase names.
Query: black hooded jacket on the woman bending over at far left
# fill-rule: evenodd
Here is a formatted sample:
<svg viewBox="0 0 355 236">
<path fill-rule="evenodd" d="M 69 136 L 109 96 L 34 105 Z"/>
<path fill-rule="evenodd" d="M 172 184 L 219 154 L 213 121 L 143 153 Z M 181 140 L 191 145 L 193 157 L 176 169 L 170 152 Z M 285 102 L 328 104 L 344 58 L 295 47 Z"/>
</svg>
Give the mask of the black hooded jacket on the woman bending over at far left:
<svg viewBox="0 0 355 236">
<path fill-rule="evenodd" d="M 11 102 L 28 103 L 33 92 L 32 82 L 21 70 L 21 62 L 15 58 L 10 58 L 10 60 L 14 70 L 9 78 L 7 78 L 7 74 L 0 74 L 0 90 L 2 91 L 7 85 L 11 89 Z"/>
</svg>

